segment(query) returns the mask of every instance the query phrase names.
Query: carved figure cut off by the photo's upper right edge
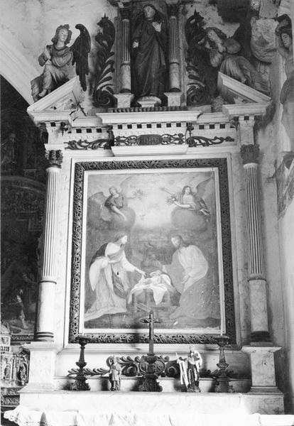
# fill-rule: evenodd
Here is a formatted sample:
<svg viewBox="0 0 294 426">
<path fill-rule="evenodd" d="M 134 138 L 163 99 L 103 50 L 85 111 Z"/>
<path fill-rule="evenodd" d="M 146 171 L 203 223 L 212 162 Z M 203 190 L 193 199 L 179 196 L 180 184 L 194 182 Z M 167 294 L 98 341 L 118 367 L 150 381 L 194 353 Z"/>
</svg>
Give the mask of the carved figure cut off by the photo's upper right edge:
<svg viewBox="0 0 294 426">
<path fill-rule="evenodd" d="M 291 21 L 288 15 L 278 18 L 276 27 L 276 48 L 285 60 L 286 80 L 283 84 L 280 102 L 283 104 L 282 123 L 290 138 L 291 151 L 294 151 L 294 61 L 293 61 L 293 34 Z"/>
</svg>

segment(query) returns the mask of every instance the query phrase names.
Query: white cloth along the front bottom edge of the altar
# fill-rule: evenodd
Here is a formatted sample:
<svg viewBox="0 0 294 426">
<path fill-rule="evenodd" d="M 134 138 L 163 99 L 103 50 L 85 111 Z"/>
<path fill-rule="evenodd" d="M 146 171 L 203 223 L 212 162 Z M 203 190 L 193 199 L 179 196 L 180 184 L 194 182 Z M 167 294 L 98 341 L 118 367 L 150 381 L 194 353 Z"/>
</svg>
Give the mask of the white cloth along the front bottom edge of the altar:
<svg viewBox="0 0 294 426">
<path fill-rule="evenodd" d="M 195 413 L 138 412 L 134 407 L 125 413 L 79 410 L 32 410 L 18 405 L 4 417 L 18 426 L 290 426 L 293 415 L 232 415 Z"/>
</svg>

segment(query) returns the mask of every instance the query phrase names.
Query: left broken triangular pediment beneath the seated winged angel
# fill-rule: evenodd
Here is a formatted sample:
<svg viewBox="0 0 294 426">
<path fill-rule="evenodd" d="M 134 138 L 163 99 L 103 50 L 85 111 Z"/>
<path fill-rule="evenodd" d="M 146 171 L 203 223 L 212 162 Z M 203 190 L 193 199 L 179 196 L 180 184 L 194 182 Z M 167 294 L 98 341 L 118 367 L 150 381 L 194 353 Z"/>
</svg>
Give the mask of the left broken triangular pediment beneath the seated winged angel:
<svg viewBox="0 0 294 426">
<path fill-rule="evenodd" d="M 82 88 L 77 77 L 62 84 L 61 87 L 47 94 L 28 107 L 28 115 L 34 121 L 50 121 L 50 117 L 56 116 L 60 119 L 70 119 L 70 113 L 75 111 L 82 100 Z"/>
</svg>

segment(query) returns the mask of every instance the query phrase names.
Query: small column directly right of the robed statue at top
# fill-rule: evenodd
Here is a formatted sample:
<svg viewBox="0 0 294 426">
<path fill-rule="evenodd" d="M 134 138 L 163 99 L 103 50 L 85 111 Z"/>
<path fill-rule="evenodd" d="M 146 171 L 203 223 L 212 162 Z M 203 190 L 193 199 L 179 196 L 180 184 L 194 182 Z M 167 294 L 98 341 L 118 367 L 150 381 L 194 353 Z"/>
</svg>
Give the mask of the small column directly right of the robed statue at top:
<svg viewBox="0 0 294 426">
<path fill-rule="evenodd" d="M 168 62 L 169 62 L 169 92 L 180 92 L 180 62 L 179 33 L 178 33 L 178 4 L 168 5 Z"/>
</svg>

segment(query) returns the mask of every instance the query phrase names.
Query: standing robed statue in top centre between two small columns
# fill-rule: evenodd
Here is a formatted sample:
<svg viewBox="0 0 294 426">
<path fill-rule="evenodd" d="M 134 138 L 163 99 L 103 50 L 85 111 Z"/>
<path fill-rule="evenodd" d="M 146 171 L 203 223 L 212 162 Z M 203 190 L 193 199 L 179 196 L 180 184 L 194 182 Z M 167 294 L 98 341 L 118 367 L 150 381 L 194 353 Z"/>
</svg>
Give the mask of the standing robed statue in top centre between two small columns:
<svg viewBox="0 0 294 426">
<path fill-rule="evenodd" d="M 161 97 L 166 80 L 165 20 L 152 4 L 143 7 L 135 23 L 132 48 L 134 52 L 133 89 L 136 99 Z"/>
</svg>

